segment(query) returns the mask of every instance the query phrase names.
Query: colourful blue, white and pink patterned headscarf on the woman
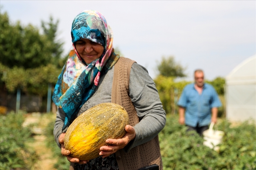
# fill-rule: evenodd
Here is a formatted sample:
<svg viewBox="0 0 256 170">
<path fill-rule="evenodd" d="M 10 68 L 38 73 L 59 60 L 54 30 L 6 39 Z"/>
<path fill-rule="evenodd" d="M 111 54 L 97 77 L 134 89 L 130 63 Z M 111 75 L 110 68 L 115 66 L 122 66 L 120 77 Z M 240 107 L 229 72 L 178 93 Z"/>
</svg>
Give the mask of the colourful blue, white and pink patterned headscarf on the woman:
<svg viewBox="0 0 256 170">
<path fill-rule="evenodd" d="M 105 74 L 119 59 L 112 47 L 113 33 L 102 14 L 85 10 L 72 23 L 72 43 L 68 60 L 54 88 L 52 100 L 66 114 L 62 130 L 75 119 L 82 105 L 92 96 L 98 86 L 100 74 Z M 104 47 L 99 59 L 86 65 L 77 53 L 74 43 L 79 39 L 89 39 Z"/>
</svg>

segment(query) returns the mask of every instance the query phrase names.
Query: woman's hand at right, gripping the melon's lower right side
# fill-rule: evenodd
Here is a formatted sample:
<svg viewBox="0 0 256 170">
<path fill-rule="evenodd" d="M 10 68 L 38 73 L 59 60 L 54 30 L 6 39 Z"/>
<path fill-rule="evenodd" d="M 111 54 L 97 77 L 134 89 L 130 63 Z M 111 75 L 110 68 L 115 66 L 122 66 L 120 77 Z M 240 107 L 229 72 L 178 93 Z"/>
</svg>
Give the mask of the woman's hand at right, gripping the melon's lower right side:
<svg viewBox="0 0 256 170">
<path fill-rule="evenodd" d="M 119 149 L 123 149 L 130 141 L 132 141 L 135 136 L 135 129 L 130 125 L 125 126 L 126 134 L 121 139 L 107 139 L 106 143 L 111 144 L 111 146 L 100 147 L 100 155 L 105 158 L 115 153 Z"/>
</svg>

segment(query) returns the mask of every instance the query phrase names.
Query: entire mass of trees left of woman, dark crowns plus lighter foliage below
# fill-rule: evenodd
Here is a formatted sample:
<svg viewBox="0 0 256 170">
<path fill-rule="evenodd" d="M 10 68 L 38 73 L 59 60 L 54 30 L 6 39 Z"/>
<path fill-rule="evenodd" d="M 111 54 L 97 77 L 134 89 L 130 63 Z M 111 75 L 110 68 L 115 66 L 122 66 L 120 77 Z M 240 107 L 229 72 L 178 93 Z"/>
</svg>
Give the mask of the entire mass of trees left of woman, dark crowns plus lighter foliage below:
<svg viewBox="0 0 256 170">
<path fill-rule="evenodd" d="M 48 83 L 56 83 L 61 68 L 63 43 L 56 40 L 58 20 L 42 21 L 43 34 L 31 24 L 12 24 L 8 14 L 0 20 L 0 82 L 9 92 L 44 96 Z"/>
</svg>

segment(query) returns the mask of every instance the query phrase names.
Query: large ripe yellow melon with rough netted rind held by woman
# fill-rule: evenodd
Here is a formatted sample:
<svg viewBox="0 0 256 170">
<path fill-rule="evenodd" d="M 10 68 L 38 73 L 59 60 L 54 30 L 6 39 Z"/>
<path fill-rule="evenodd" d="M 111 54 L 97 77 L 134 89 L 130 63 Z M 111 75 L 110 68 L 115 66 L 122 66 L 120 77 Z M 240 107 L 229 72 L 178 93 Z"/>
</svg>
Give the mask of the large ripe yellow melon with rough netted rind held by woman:
<svg viewBox="0 0 256 170">
<path fill-rule="evenodd" d="M 106 139 L 119 139 L 126 133 L 129 118 L 124 107 L 114 103 L 98 104 L 80 116 L 68 127 L 64 138 L 66 150 L 73 158 L 91 160 L 107 146 Z"/>
</svg>

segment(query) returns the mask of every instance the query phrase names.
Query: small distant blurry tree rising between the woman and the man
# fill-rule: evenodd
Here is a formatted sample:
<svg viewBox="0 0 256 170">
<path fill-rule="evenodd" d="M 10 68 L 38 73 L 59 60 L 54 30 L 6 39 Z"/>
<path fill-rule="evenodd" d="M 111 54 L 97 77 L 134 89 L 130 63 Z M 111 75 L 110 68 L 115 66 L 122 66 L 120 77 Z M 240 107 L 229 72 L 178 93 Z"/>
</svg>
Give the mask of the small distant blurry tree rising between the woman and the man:
<svg viewBox="0 0 256 170">
<path fill-rule="evenodd" d="M 162 61 L 158 63 L 157 69 L 162 76 L 166 77 L 185 77 L 184 73 L 185 68 L 176 63 L 174 57 L 162 57 Z"/>
</svg>

